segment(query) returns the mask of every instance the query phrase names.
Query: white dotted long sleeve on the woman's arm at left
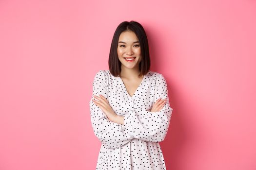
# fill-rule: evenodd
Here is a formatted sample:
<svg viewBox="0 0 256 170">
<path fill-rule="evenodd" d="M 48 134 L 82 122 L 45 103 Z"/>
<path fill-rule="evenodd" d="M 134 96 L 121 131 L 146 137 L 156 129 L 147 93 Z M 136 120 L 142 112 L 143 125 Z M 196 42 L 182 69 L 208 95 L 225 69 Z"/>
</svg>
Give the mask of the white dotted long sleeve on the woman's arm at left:
<svg viewBox="0 0 256 170">
<path fill-rule="evenodd" d="M 93 96 L 99 94 L 108 99 L 107 79 L 102 70 L 98 71 L 93 82 Z M 109 148 L 118 148 L 133 139 L 132 136 L 125 133 L 124 125 L 112 122 L 106 117 L 103 111 L 92 101 L 93 96 L 89 102 L 91 123 L 94 134 L 100 142 Z"/>
</svg>

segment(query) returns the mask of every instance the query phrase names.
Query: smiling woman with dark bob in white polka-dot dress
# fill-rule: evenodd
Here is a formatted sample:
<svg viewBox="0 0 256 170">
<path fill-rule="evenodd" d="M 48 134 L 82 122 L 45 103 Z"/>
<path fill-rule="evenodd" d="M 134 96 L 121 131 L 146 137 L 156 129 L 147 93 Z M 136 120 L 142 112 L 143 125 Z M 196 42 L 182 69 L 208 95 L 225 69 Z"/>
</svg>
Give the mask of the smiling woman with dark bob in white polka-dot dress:
<svg viewBox="0 0 256 170">
<path fill-rule="evenodd" d="M 149 68 L 143 27 L 120 23 L 109 70 L 95 75 L 90 100 L 92 127 L 102 143 L 97 170 L 166 170 L 158 142 L 166 136 L 173 109 L 166 80 Z"/>
</svg>

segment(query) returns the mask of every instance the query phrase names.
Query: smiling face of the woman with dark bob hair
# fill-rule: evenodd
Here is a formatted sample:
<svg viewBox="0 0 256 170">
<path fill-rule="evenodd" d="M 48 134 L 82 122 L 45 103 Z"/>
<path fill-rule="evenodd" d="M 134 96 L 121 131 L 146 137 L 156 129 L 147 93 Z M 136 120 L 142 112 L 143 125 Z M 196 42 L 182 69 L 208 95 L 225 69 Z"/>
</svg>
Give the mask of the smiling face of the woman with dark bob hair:
<svg viewBox="0 0 256 170">
<path fill-rule="evenodd" d="M 118 39 L 118 59 L 121 67 L 137 68 L 141 61 L 138 37 L 132 31 L 122 32 Z"/>
</svg>

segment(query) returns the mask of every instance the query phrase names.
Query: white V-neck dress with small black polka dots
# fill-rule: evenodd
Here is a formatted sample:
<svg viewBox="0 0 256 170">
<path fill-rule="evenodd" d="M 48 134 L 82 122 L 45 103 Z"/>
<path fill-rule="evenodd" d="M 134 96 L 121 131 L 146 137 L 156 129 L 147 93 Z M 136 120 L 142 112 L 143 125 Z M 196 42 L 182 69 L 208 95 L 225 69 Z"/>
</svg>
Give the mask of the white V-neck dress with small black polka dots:
<svg viewBox="0 0 256 170">
<path fill-rule="evenodd" d="M 124 124 L 107 119 L 102 110 L 89 102 L 94 134 L 100 140 L 96 170 L 166 170 L 158 142 L 164 140 L 173 109 L 163 75 L 148 71 L 131 97 L 120 76 L 99 70 L 94 77 L 93 95 L 103 95 Z M 150 112 L 159 98 L 167 102 L 159 112 Z"/>
</svg>

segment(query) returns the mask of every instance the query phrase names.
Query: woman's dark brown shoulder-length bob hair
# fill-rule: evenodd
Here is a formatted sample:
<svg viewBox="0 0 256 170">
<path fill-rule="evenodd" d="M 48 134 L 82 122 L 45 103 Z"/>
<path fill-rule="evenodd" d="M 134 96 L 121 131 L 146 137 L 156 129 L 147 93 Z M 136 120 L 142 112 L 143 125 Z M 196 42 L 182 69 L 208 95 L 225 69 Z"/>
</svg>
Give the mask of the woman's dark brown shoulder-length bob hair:
<svg viewBox="0 0 256 170">
<path fill-rule="evenodd" d="M 150 69 L 148 38 L 142 25 L 133 20 L 131 20 L 130 22 L 123 21 L 122 23 L 120 23 L 114 33 L 108 58 L 109 71 L 115 77 L 117 77 L 118 75 L 120 76 L 121 62 L 118 59 L 118 39 L 120 34 L 124 31 L 132 31 L 137 35 L 141 52 L 141 61 L 139 63 L 139 76 L 146 75 Z"/>
</svg>

